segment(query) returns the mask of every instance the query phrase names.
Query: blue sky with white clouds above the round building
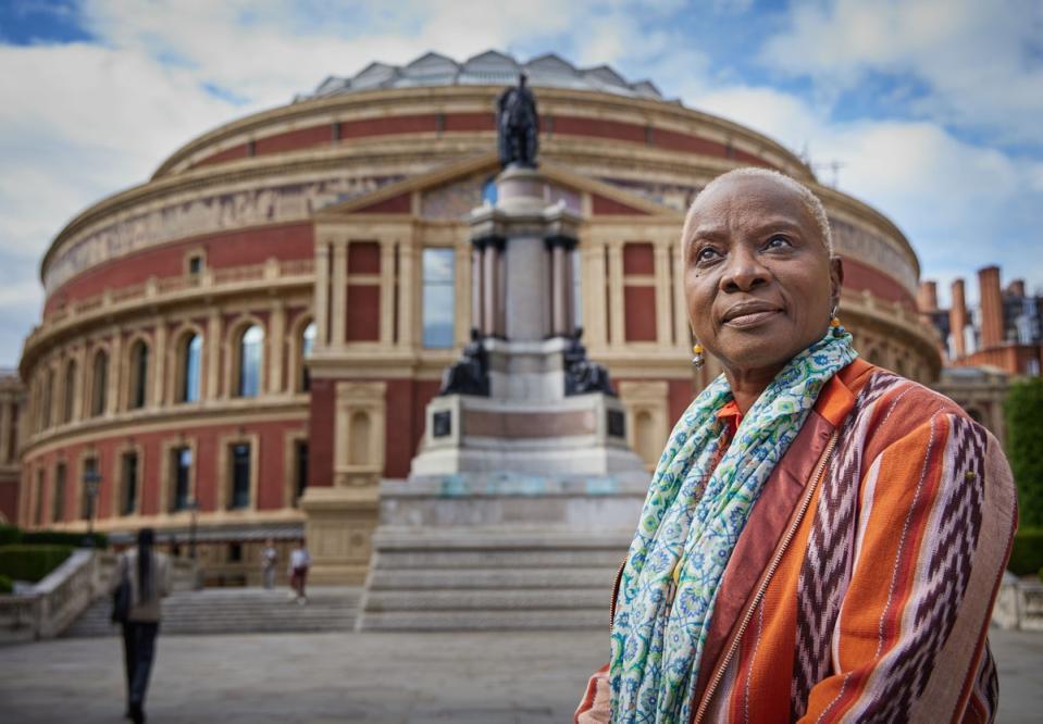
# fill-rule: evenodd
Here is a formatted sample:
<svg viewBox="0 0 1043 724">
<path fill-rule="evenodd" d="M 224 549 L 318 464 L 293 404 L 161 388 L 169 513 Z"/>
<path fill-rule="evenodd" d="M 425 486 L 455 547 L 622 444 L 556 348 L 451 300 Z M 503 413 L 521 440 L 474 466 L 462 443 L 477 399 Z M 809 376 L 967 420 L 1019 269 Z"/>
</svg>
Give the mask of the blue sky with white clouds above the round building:
<svg viewBox="0 0 1043 724">
<path fill-rule="evenodd" d="M 221 123 L 427 50 L 557 52 L 807 152 L 890 216 L 924 278 L 999 264 L 1043 290 L 1036 0 L 0 1 L 0 366 L 39 260 L 85 207 Z M 830 164 L 837 162 L 834 178 Z"/>
</svg>

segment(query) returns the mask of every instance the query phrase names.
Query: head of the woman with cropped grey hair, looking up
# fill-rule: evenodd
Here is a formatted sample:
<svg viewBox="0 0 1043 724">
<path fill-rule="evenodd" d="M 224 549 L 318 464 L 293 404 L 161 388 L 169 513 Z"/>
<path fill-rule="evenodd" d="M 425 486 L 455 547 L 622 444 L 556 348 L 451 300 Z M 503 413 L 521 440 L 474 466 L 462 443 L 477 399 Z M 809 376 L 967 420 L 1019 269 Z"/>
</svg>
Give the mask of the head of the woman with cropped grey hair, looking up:
<svg viewBox="0 0 1043 724">
<path fill-rule="evenodd" d="M 757 176 L 698 197 L 684 264 L 692 329 L 732 373 L 774 376 L 820 339 L 843 279 L 800 197 Z"/>
</svg>

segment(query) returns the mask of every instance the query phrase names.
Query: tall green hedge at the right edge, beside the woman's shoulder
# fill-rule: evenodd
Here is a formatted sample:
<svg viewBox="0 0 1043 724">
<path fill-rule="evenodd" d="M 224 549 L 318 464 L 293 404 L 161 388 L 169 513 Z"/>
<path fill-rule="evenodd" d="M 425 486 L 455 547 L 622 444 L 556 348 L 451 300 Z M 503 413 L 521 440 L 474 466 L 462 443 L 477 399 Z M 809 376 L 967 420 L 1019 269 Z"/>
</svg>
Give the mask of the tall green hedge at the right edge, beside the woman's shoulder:
<svg viewBox="0 0 1043 724">
<path fill-rule="evenodd" d="M 1021 525 L 1043 526 L 1043 378 L 1030 377 L 1010 385 L 1004 414 L 1007 421 L 1007 459 L 1018 486 Z M 1033 569 L 1034 570 L 1034 569 Z"/>
</svg>

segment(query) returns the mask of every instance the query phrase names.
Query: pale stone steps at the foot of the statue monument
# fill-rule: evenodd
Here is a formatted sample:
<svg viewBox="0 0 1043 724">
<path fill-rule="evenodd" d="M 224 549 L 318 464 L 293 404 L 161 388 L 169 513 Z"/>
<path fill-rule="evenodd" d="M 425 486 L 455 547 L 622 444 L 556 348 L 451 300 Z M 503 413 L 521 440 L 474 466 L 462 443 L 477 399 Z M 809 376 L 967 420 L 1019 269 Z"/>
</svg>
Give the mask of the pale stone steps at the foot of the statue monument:
<svg viewBox="0 0 1043 724">
<path fill-rule="evenodd" d="M 608 628 L 630 534 L 382 526 L 359 631 Z"/>
</svg>

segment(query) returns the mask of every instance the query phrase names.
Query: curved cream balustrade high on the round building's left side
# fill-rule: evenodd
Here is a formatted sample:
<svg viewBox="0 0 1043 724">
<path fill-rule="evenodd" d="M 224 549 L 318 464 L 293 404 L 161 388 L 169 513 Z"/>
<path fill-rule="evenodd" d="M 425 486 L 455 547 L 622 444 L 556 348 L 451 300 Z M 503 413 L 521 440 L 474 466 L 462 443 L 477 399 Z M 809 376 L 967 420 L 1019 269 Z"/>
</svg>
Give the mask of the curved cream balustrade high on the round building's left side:
<svg viewBox="0 0 1043 724">
<path fill-rule="evenodd" d="M 311 259 L 280 261 L 269 259 L 261 264 L 248 264 L 227 269 L 207 269 L 199 274 L 149 277 L 140 284 L 117 289 L 105 289 L 100 295 L 87 297 L 48 313 L 45 323 L 36 327 L 25 340 L 30 349 L 44 337 L 60 332 L 63 327 L 82 324 L 92 316 L 108 317 L 121 311 L 137 309 L 142 301 L 150 304 L 179 300 L 182 297 L 214 295 L 236 291 L 244 284 L 299 284 L 314 274 Z"/>
</svg>

